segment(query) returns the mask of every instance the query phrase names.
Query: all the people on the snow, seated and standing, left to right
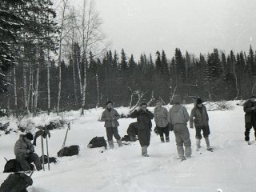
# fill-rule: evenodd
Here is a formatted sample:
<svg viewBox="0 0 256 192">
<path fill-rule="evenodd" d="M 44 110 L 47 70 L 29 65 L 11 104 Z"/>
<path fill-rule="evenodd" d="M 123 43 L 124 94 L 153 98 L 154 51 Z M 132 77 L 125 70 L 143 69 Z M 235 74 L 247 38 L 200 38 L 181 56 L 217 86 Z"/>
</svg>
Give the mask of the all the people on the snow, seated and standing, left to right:
<svg viewBox="0 0 256 192">
<path fill-rule="evenodd" d="M 139 143 L 142 147 L 142 156 L 148 157 L 147 148 L 150 146 L 150 131 L 152 128 L 151 120 L 154 118 L 158 134 L 161 142 L 170 142 L 169 133 L 174 131 L 175 141 L 179 158 L 183 161 L 190 158 L 192 154 L 190 132 L 187 122 L 190 122 L 190 128 L 195 127 L 196 150 L 201 147 L 202 137 L 206 142 L 206 150 L 212 150 L 210 147 L 209 135 L 209 116 L 206 106 L 202 104 L 202 99 L 198 98 L 194 103 L 194 108 L 189 115 L 186 107 L 181 105 L 181 97 L 176 94 L 173 97 L 173 106 L 168 111 L 162 106 L 162 101 L 157 102 L 154 108 L 154 114 L 147 110 L 147 104 L 142 102 L 137 110 L 130 114 L 130 118 L 137 118 L 137 122 L 130 124 L 127 133 L 130 135 L 131 141 L 136 141 L 138 135 Z M 245 114 L 245 141 L 250 141 L 250 130 L 254 128 L 254 136 L 256 138 L 256 96 L 251 96 L 248 101 L 243 104 Z M 118 142 L 118 146 L 122 146 L 122 140 L 118 134 L 118 119 L 120 115 L 114 109 L 111 101 L 106 102 L 106 110 L 102 113 L 101 121 L 105 122 L 107 140 L 110 149 L 114 148 L 113 136 Z M 164 137 L 165 136 L 165 137 Z M 14 154 L 16 160 L 22 166 L 22 170 L 29 171 L 30 163 L 34 162 L 37 170 L 42 170 L 42 163 L 38 154 L 34 153 L 34 146 L 31 141 L 34 135 L 31 133 L 21 134 L 14 146 Z"/>
</svg>

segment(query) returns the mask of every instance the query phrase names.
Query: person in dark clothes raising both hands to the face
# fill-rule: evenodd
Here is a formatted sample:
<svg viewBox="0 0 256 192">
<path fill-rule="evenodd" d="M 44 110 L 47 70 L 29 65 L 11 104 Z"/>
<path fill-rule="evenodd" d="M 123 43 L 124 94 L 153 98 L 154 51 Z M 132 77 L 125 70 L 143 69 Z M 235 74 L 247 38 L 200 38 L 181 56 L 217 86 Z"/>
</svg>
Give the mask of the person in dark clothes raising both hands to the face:
<svg viewBox="0 0 256 192">
<path fill-rule="evenodd" d="M 150 146 L 150 131 L 152 127 L 151 119 L 154 118 L 154 114 L 147 110 L 146 107 L 147 104 L 142 102 L 142 104 L 138 106 L 138 109 L 134 110 L 134 112 L 130 114 L 130 118 L 137 118 L 138 141 L 142 146 L 142 156 L 149 157 L 147 154 L 147 148 Z"/>
</svg>

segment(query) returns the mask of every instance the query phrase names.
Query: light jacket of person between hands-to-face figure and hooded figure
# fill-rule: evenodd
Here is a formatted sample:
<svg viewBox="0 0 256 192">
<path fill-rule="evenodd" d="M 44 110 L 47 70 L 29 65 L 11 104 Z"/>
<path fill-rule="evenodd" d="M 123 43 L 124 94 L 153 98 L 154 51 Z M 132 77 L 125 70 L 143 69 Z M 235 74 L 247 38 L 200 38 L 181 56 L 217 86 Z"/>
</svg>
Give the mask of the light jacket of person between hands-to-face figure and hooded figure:
<svg viewBox="0 0 256 192">
<path fill-rule="evenodd" d="M 166 127 L 168 125 L 168 110 L 162 106 L 154 108 L 154 122 L 158 127 Z"/>
</svg>

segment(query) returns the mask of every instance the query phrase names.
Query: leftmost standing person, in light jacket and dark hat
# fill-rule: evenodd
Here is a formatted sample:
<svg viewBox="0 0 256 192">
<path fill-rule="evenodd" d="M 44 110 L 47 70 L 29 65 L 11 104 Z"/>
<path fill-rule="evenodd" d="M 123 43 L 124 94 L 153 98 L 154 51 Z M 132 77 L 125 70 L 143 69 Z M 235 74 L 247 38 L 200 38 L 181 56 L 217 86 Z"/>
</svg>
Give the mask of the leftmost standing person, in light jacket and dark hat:
<svg viewBox="0 0 256 192">
<path fill-rule="evenodd" d="M 118 134 L 118 119 L 120 115 L 118 111 L 113 108 L 113 103 L 111 101 L 106 102 L 106 110 L 102 113 L 101 122 L 105 122 L 106 127 L 106 137 L 110 146 L 110 149 L 114 148 L 113 135 L 118 142 L 118 146 L 122 146 L 121 137 Z"/>
</svg>

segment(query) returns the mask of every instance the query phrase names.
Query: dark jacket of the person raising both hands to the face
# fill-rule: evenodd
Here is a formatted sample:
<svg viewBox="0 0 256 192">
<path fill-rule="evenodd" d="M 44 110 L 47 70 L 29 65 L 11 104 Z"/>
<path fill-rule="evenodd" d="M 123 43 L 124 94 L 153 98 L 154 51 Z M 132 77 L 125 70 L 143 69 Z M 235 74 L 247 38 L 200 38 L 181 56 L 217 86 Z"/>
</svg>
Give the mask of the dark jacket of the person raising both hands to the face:
<svg viewBox="0 0 256 192">
<path fill-rule="evenodd" d="M 138 130 L 151 130 L 151 119 L 154 118 L 154 114 L 152 114 L 149 110 L 134 110 L 134 112 L 130 114 L 130 118 L 137 118 Z"/>
</svg>

